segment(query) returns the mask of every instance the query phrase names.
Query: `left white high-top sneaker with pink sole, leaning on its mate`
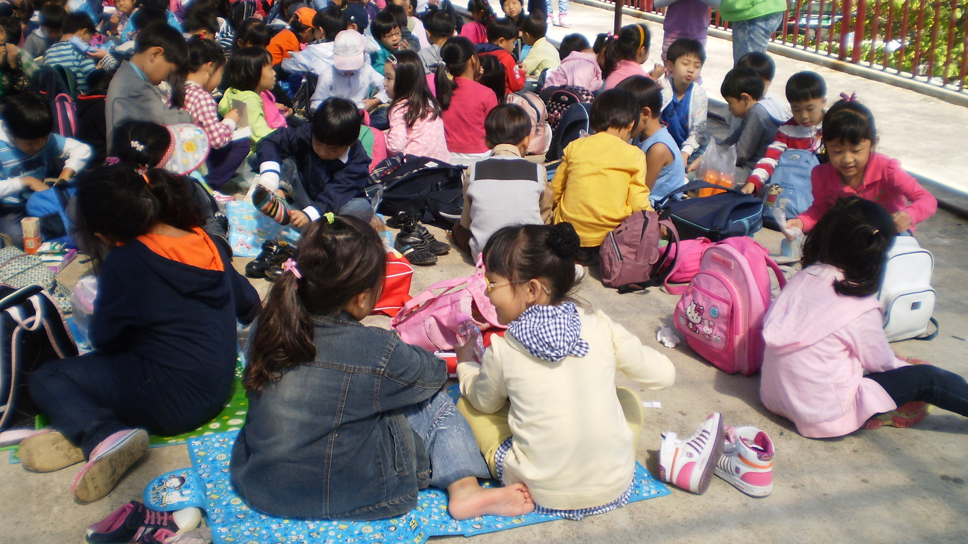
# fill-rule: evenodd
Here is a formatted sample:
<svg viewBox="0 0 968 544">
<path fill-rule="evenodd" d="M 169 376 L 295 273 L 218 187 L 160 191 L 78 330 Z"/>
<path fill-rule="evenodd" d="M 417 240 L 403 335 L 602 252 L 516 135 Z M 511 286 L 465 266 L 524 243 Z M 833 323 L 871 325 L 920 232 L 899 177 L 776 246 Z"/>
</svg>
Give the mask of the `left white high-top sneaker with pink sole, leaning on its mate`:
<svg viewBox="0 0 968 544">
<path fill-rule="evenodd" d="M 665 433 L 659 448 L 659 477 L 681 489 L 702 495 L 723 450 L 722 415 L 713 413 L 691 437 Z"/>
</svg>

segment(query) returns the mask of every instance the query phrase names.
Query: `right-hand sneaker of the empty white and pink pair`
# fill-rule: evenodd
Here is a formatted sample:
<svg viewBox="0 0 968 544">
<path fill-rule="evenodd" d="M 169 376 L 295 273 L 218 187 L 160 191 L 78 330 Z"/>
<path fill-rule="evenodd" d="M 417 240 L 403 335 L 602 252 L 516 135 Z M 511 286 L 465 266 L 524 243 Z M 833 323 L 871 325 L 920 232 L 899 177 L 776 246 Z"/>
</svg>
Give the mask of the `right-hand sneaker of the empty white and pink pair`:
<svg viewBox="0 0 968 544">
<path fill-rule="evenodd" d="M 773 442 L 756 427 L 727 429 L 716 475 L 750 497 L 773 491 Z"/>
</svg>

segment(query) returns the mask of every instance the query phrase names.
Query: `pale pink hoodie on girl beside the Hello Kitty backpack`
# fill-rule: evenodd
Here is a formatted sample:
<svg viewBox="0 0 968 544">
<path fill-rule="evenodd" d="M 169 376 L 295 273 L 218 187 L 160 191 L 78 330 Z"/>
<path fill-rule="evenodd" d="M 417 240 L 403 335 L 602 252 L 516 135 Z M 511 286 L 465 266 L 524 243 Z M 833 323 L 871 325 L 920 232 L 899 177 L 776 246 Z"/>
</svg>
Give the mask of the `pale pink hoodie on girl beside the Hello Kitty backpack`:
<svg viewBox="0 0 968 544">
<path fill-rule="evenodd" d="M 760 399 L 808 438 L 853 433 L 875 413 L 897 408 L 863 371 L 907 365 L 888 345 L 877 298 L 837 294 L 833 282 L 841 279 L 829 264 L 805 268 L 776 297 L 763 323 Z"/>
</svg>

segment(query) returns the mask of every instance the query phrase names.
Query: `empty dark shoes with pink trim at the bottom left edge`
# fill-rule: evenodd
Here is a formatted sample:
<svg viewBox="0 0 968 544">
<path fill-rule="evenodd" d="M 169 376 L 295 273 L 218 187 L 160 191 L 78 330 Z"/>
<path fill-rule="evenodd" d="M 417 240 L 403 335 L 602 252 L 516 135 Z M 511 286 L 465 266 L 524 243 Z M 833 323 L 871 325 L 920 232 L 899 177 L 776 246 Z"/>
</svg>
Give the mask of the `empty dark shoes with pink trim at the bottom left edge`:
<svg viewBox="0 0 968 544">
<path fill-rule="evenodd" d="M 201 510 L 196 507 L 175 512 L 157 512 L 132 500 L 111 512 L 105 519 L 88 526 L 87 544 L 164 544 L 176 534 L 196 529 Z"/>
</svg>

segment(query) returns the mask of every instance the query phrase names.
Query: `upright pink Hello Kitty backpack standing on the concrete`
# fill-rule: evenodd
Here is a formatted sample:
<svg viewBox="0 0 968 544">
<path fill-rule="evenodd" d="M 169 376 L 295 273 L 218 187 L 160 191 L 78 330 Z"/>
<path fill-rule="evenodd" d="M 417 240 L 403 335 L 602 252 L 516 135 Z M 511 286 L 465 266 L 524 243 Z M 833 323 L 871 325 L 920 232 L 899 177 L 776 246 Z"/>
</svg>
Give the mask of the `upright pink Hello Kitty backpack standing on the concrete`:
<svg viewBox="0 0 968 544">
<path fill-rule="evenodd" d="M 719 370 L 749 376 L 763 365 L 763 317 L 771 303 L 770 272 L 786 280 L 769 252 L 751 238 L 711 244 L 676 306 L 676 328 Z"/>
</svg>

